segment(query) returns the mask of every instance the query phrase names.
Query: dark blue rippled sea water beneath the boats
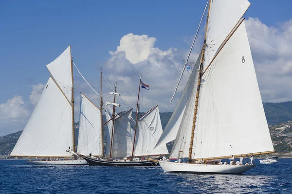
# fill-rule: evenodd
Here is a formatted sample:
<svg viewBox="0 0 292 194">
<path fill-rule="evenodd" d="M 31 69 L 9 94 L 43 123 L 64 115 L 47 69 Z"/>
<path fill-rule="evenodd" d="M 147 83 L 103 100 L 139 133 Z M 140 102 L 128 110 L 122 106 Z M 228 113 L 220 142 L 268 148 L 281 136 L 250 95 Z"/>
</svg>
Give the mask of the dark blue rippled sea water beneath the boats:
<svg viewBox="0 0 292 194">
<path fill-rule="evenodd" d="M 158 167 L 34 166 L 0 160 L 0 194 L 292 194 L 292 159 L 244 175 L 164 173 Z"/>
</svg>

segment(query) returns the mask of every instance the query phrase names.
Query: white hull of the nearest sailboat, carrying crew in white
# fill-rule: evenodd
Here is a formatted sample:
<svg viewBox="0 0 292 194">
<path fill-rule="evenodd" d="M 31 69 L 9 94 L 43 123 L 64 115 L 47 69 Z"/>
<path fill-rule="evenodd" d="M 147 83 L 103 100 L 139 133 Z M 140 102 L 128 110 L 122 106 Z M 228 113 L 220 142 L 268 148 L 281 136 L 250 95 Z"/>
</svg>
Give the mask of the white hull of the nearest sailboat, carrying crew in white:
<svg viewBox="0 0 292 194">
<path fill-rule="evenodd" d="M 164 172 L 193 174 L 242 174 L 256 165 L 189 164 L 159 160 Z"/>
</svg>

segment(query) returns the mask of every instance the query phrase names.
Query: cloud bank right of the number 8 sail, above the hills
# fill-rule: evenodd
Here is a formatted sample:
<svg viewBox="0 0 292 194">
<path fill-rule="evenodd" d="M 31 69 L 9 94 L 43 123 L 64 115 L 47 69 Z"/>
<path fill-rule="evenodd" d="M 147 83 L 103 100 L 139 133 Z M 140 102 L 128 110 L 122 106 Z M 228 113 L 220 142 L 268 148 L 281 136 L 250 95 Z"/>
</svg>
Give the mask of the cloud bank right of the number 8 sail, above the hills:
<svg viewBox="0 0 292 194">
<path fill-rule="evenodd" d="M 292 100 L 292 19 L 276 27 L 258 18 L 246 22 L 263 102 Z"/>
</svg>

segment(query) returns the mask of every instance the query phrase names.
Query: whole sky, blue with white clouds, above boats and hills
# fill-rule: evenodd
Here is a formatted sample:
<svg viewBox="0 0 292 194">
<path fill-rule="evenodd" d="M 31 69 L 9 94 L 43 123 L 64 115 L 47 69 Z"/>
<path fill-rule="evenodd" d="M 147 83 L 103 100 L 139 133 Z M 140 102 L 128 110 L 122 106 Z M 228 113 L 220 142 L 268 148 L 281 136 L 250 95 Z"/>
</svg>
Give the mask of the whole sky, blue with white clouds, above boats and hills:
<svg viewBox="0 0 292 194">
<path fill-rule="evenodd" d="M 292 1 L 250 0 L 244 17 L 263 102 L 292 101 Z M 25 127 L 50 73 L 46 65 L 69 45 L 73 61 L 104 99 L 117 82 L 126 109 L 135 107 L 139 78 L 141 111 L 159 104 L 173 111 L 169 99 L 183 68 L 206 0 L 0 1 L 0 136 Z M 283 6 L 284 5 L 284 6 Z M 203 31 L 200 31 L 199 38 Z M 195 44 L 191 60 L 201 42 Z M 79 92 L 95 103 L 96 95 L 74 70 Z M 120 110 L 125 110 L 124 106 Z M 75 115 L 79 105 L 76 103 Z M 78 120 L 78 119 L 77 119 Z"/>
</svg>

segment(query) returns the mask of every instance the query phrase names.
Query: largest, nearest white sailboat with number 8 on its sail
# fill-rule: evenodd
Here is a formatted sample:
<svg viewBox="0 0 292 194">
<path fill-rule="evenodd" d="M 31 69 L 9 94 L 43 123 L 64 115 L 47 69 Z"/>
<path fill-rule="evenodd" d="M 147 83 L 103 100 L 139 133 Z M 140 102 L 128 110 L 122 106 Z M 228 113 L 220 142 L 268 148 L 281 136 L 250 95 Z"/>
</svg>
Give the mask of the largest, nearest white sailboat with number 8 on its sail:
<svg viewBox="0 0 292 194">
<path fill-rule="evenodd" d="M 255 165 L 216 160 L 274 153 L 242 18 L 249 6 L 247 0 L 207 2 L 200 56 L 157 143 L 175 140 L 170 158 L 176 161 L 159 161 L 165 172 L 241 174 Z"/>
</svg>

